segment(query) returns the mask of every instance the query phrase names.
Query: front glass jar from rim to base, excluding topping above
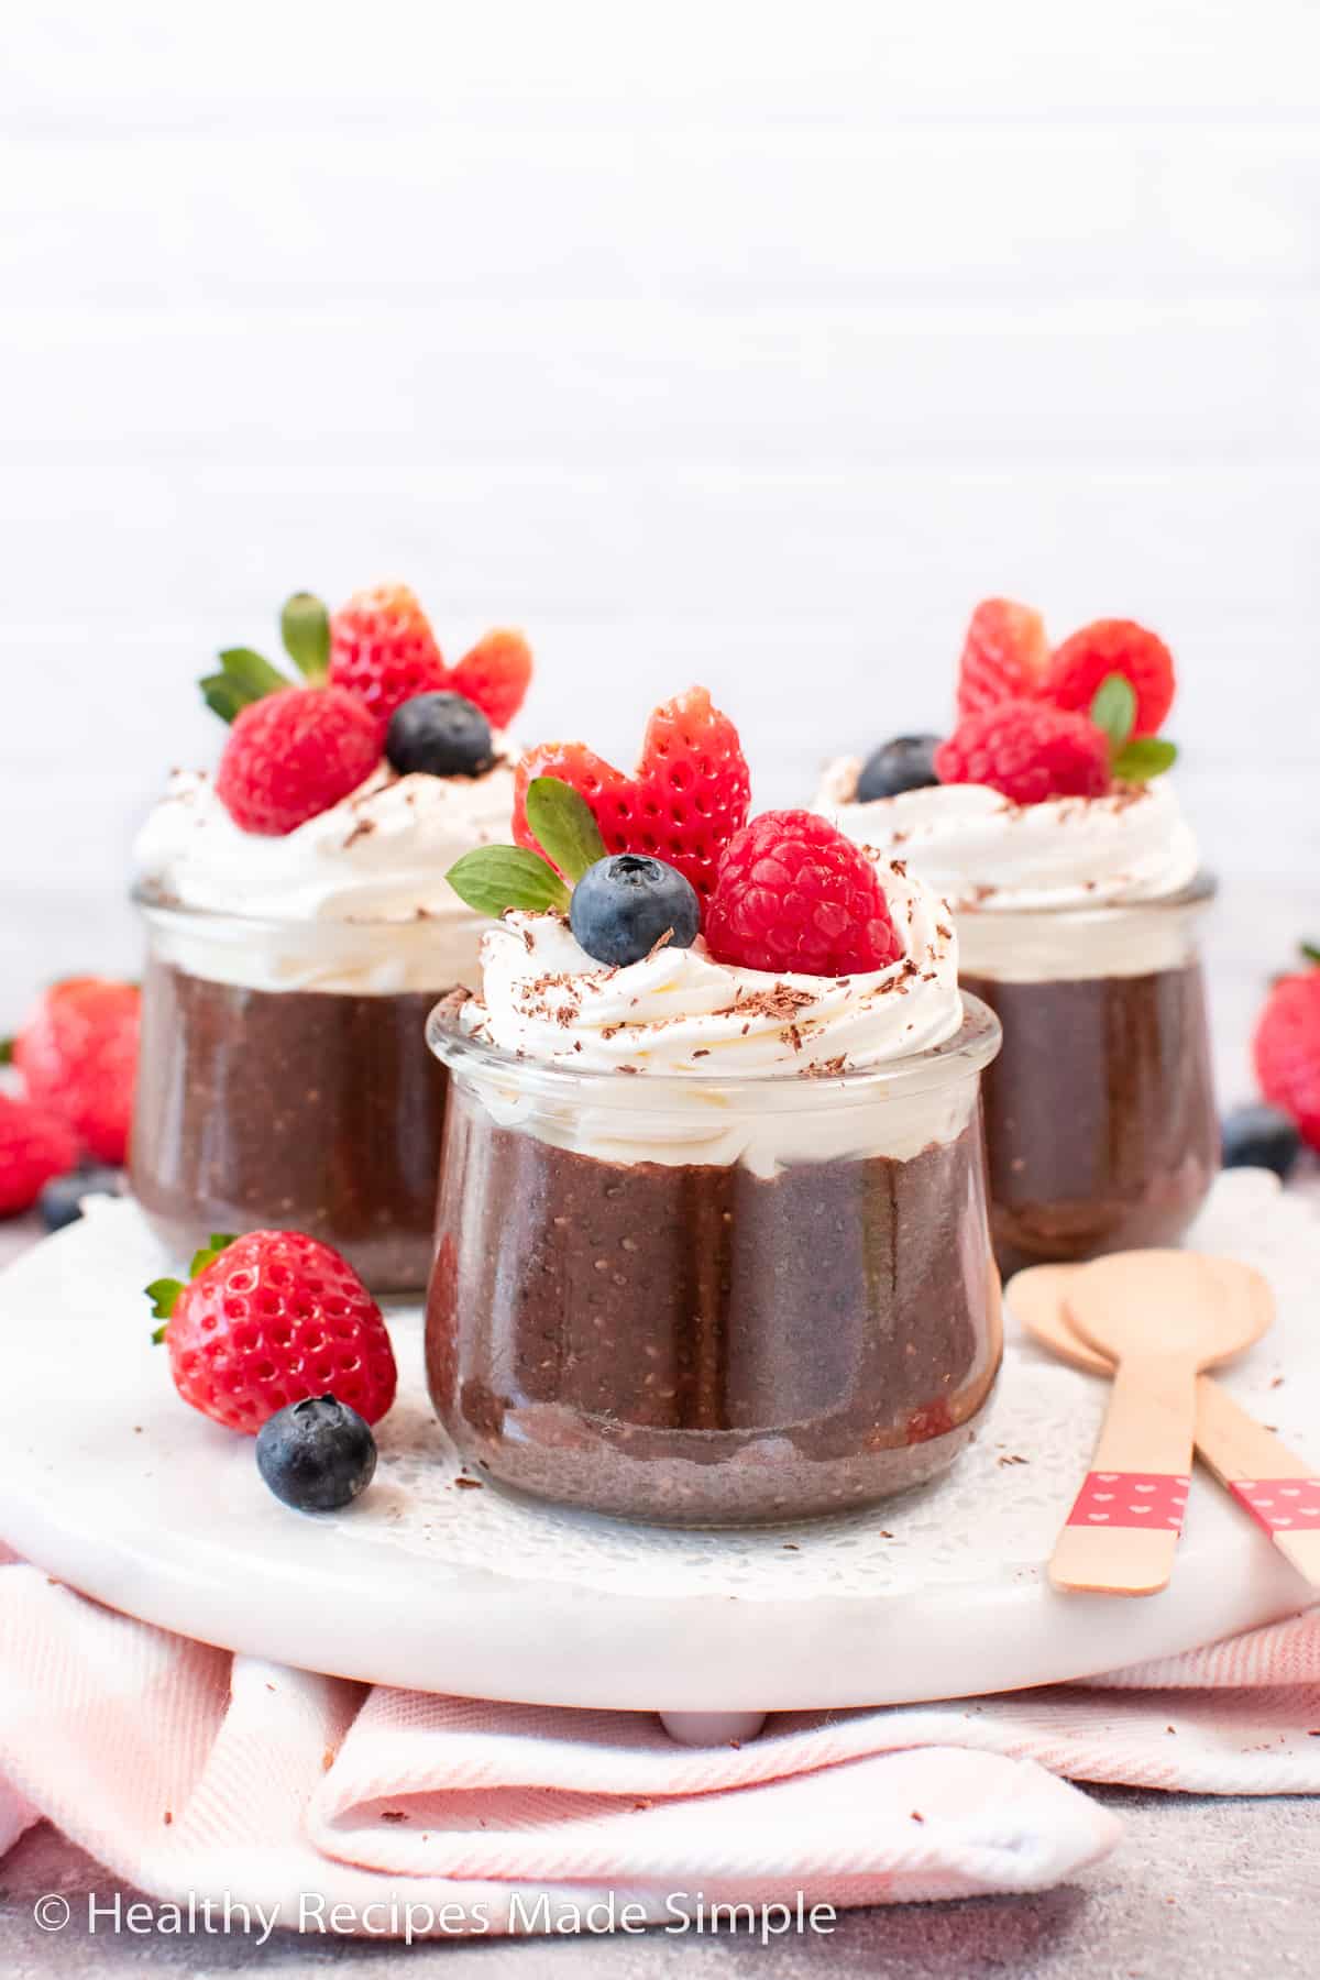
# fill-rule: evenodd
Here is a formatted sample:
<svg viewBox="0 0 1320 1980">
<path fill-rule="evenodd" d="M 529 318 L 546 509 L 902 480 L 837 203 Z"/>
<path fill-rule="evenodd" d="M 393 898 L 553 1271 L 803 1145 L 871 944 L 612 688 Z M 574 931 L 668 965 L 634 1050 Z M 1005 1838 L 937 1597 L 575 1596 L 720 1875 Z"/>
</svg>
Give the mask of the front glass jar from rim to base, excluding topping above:
<svg viewBox="0 0 1320 1980">
<path fill-rule="evenodd" d="M 944 1471 L 999 1368 L 974 998 L 875 1071 L 703 1079 L 449 1067 L 431 1400 L 463 1459 L 544 1499 L 732 1527 Z"/>
</svg>

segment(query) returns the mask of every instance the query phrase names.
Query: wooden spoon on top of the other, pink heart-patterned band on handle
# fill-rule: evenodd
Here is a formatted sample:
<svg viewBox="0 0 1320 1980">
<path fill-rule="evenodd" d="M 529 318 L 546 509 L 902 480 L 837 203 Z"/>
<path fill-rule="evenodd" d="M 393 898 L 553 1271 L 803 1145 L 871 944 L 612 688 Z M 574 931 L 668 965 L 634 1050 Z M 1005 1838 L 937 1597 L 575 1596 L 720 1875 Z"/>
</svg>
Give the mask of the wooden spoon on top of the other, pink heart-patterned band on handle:
<svg viewBox="0 0 1320 1980">
<path fill-rule="evenodd" d="M 1251 1279 L 1259 1273 L 1235 1259 L 1116 1251 L 1065 1281 L 1069 1323 L 1114 1364 L 1114 1388 L 1049 1564 L 1055 1588 L 1116 1596 L 1168 1588 L 1191 1483 L 1195 1380 L 1271 1323 L 1269 1297 L 1247 1295 Z"/>
</svg>

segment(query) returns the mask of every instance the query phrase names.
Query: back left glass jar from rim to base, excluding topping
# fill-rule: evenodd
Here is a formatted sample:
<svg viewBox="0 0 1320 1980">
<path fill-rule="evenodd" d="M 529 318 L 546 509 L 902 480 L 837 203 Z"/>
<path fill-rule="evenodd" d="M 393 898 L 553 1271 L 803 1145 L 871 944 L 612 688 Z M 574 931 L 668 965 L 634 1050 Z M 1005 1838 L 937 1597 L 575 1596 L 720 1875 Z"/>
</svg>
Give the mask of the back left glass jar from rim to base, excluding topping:
<svg viewBox="0 0 1320 1980">
<path fill-rule="evenodd" d="M 131 1180 L 162 1241 L 186 1259 L 214 1230 L 301 1230 L 374 1293 L 424 1291 L 447 1089 L 425 1020 L 451 933 L 137 901 Z"/>
</svg>

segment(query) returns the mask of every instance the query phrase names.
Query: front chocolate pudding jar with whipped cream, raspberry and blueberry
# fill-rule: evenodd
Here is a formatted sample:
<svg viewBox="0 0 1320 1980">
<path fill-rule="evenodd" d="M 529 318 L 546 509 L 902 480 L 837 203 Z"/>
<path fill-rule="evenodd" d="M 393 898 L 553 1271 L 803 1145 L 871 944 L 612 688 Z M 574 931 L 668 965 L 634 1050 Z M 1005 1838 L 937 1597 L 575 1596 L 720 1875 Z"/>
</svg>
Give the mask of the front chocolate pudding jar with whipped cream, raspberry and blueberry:
<svg viewBox="0 0 1320 1980">
<path fill-rule="evenodd" d="M 556 834 L 554 788 L 528 796 L 566 881 L 530 851 L 455 873 L 524 905 L 429 1028 L 441 1424 L 495 1483 L 675 1525 L 936 1477 L 1001 1348 L 978 1097 L 999 1026 L 938 901 L 805 812 L 736 830 L 718 877 L 606 853 Z"/>
</svg>

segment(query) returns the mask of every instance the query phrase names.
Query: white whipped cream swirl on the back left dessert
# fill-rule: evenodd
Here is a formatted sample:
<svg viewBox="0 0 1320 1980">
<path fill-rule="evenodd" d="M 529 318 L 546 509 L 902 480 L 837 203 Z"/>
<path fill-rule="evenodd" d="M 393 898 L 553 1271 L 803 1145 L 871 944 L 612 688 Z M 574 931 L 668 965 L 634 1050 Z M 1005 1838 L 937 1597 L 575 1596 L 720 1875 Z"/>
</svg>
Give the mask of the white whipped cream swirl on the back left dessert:
<svg viewBox="0 0 1320 1980">
<path fill-rule="evenodd" d="M 445 873 L 475 845 L 511 836 L 517 750 L 499 735 L 495 746 L 495 768 L 475 778 L 396 776 L 380 764 L 283 838 L 241 832 L 210 776 L 174 772 L 135 845 L 139 885 L 166 905 L 271 929 L 241 948 L 220 933 L 178 933 L 172 960 L 253 988 L 475 986 L 489 923 Z"/>
</svg>

